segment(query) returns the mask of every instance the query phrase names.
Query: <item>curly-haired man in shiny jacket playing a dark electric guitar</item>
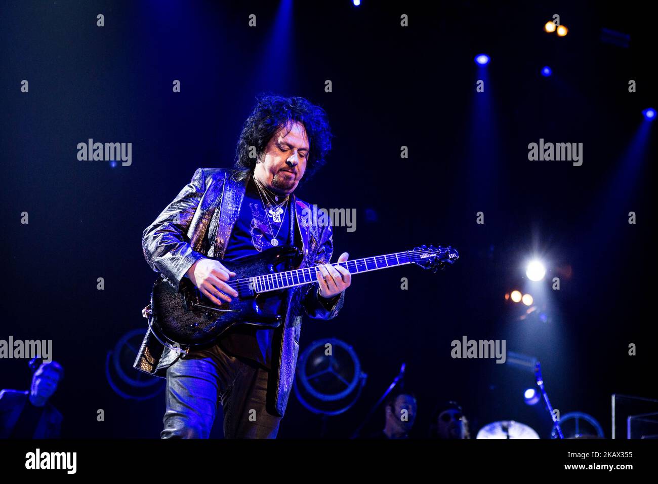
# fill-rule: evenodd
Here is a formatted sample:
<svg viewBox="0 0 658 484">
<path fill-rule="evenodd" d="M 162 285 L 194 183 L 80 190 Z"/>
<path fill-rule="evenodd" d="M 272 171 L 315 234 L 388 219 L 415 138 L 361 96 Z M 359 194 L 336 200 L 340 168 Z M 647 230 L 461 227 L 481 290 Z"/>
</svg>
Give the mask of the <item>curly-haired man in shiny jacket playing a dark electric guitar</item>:
<svg viewBox="0 0 658 484">
<path fill-rule="evenodd" d="M 276 437 L 293 385 L 302 316 L 336 317 L 351 282 L 348 269 L 329 264 L 331 226 L 309 224 L 301 217 L 309 204 L 293 194 L 330 148 L 320 107 L 301 97 L 260 97 L 241 132 L 236 169 L 197 169 L 144 230 L 151 268 L 174 288 L 187 277 L 216 306 L 238 292 L 227 283 L 236 273 L 215 259 L 239 262 L 268 248 L 295 246 L 303 255 L 299 267 L 317 267 L 318 284 L 282 291 L 278 327 L 235 325 L 212 346 L 187 353 L 147 333 L 135 367 L 166 377 L 162 438 L 208 438 L 218 402 L 226 438 Z"/>
</svg>

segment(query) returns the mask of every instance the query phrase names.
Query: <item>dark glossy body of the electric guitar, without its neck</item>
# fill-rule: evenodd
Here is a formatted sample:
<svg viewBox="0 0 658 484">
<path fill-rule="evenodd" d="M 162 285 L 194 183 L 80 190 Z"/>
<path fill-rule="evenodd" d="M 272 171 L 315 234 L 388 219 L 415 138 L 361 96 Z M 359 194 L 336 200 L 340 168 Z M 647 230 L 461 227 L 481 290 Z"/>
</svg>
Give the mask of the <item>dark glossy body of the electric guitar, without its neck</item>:
<svg viewBox="0 0 658 484">
<path fill-rule="evenodd" d="M 272 247 L 240 261 L 220 261 L 236 273 L 232 281 L 290 270 L 301 263 L 301 251 L 293 246 Z M 207 257 L 213 259 L 214 257 Z M 222 333 L 238 324 L 278 327 L 284 317 L 285 290 L 257 293 L 247 281 L 234 288 L 238 297 L 216 306 L 184 277 L 175 290 L 163 277 L 151 292 L 151 331 L 180 348 L 210 346 Z"/>
</svg>

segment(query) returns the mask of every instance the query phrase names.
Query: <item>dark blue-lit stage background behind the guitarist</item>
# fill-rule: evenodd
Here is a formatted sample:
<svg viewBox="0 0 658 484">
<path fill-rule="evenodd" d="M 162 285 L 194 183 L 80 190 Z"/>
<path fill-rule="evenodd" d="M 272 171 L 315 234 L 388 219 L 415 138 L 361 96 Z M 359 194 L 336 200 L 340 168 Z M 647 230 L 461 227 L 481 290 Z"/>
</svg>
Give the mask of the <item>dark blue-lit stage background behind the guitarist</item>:
<svg viewBox="0 0 658 484">
<path fill-rule="evenodd" d="M 456 399 L 473 435 L 516 419 L 547 437 L 545 410 L 522 401 L 532 375 L 451 358 L 451 341 L 463 335 L 505 339 L 508 351 L 539 358 L 553 406 L 591 414 L 606 437 L 611 394 L 658 398 L 655 283 L 647 281 L 656 146 L 641 114 L 657 105 L 647 7 L 363 3 L 2 3 L 0 338 L 53 340 L 66 369 L 53 398 L 64 437 L 159 436 L 163 393 L 125 400 L 105 377 L 116 341 L 145 329 L 140 311 L 155 273 L 141 232 L 195 169 L 232 165 L 241 124 L 265 91 L 307 97 L 328 113 L 329 163 L 297 194 L 357 209 L 355 232 L 334 229 L 333 261 L 343 251 L 366 257 L 420 244 L 451 244 L 461 255 L 436 275 L 413 266 L 357 275 L 338 318 L 305 319 L 301 350 L 340 338 L 368 373 L 359 402 L 330 420 L 327 437 L 348 436 L 402 362 L 418 396 L 417 436 L 438 402 Z M 542 30 L 555 13 L 570 29 L 565 38 Z M 630 34 L 630 46 L 602 43 L 602 27 Z M 486 77 L 473 62 L 481 52 L 492 57 Z M 540 75 L 544 65 L 553 76 Z M 482 94 L 478 79 L 486 79 Z M 76 146 L 88 138 L 132 142 L 132 166 L 78 161 Z M 528 144 L 540 138 L 582 142 L 583 165 L 528 161 Z M 23 211 L 29 225 L 20 224 Z M 547 322 L 520 320 L 522 308 L 503 298 L 526 287 L 533 254 L 548 265 L 544 298 L 535 288 Z M 550 290 L 553 277 L 561 290 Z M 26 361 L 0 365 L 0 388 L 28 386 Z M 379 410 L 368 429 L 382 421 Z M 291 396 L 280 437 L 320 429 Z"/>
</svg>

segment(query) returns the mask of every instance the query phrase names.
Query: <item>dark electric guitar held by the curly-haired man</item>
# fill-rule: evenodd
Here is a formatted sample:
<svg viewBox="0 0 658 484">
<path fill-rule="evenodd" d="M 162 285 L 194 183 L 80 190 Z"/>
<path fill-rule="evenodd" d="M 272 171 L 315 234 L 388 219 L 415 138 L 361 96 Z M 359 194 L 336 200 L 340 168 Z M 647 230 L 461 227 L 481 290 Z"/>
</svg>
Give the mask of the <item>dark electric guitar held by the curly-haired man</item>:
<svg viewBox="0 0 658 484">
<path fill-rule="evenodd" d="M 214 257 L 208 257 L 214 259 Z M 451 247 L 422 246 L 395 254 L 376 255 L 332 263 L 342 265 L 351 274 L 416 264 L 423 269 L 443 269 L 459 258 Z M 142 310 L 153 335 L 164 346 L 177 352 L 213 344 L 222 333 L 238 324 L 278 327 L 284 317 L 284 292 L 287 288 L 317 283 L 317 267 L 299 267 L 301 250 L 278 246 L 240 261 L 220 261 L 236 273 L 227 284 L 238 292 L 231 302 L 216 306 L 184 277 L 178 290 L 161 275 L 151 292 L 151 304 Z"/>
</svg>

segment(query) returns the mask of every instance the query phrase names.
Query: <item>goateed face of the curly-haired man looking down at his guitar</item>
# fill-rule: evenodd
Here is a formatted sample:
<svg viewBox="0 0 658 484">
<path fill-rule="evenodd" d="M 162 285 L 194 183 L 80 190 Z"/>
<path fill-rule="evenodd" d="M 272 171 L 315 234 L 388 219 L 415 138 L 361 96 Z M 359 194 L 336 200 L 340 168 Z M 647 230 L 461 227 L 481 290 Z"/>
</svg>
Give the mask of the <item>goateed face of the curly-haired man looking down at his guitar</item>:
<svg viewBox="0 0 658 484">
<path fill-rule="evenodd" d="M 254 175 L 272 192 L 291 194 L 304 176 L 308 155 L 306 130 L 303 124 L 293 122 L 272 136 L 256 163 Z"/>
</svg>

